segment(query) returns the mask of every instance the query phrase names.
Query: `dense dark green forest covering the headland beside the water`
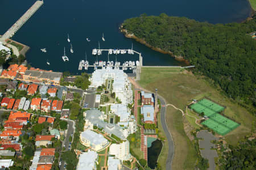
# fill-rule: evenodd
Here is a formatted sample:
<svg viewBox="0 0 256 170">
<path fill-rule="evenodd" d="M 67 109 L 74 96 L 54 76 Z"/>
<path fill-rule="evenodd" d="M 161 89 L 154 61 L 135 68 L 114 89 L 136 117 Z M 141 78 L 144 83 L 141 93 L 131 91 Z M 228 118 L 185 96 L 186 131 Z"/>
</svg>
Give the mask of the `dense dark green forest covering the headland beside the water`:
<svg viewBox="0 0 256 170">
<path fill-rule="evenodd" d="M 184 57 L 229 97 L 256 105 L 256 41 L 249 35 L 256 30 L 256 16 L 244 23 L 210 24 L 141 15 L 125 20 L 123 28 L 155 48 Z"/>
</svg>

